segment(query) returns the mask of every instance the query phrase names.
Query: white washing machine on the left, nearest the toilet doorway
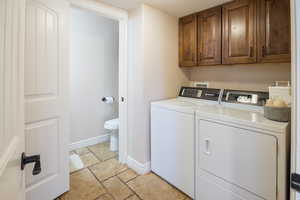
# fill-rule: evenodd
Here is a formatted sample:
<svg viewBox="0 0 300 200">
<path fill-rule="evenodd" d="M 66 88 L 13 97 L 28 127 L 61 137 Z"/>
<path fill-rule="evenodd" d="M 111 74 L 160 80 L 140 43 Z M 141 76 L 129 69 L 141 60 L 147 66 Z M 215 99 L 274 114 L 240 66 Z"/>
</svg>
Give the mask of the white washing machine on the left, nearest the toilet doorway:
<svg viewBox="0 0 300 200">
<path fill-rule="evenodd" d="M 151 170 L 195 198 L 195 111 L 220 102 L 220 89 L 182 87 L 151 103 Z"/>
</svg>

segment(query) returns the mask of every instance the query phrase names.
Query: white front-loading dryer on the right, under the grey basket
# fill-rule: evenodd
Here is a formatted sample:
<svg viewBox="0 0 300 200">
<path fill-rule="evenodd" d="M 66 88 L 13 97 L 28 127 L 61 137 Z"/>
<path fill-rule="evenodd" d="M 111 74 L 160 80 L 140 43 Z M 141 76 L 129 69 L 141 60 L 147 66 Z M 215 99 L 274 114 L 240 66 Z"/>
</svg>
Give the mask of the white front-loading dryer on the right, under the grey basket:
<svg viewBox="0 0 300 200">
<path fill-rule="evenodd" d="M 225 90 L 196 111 L 196 200 L 284 200 L 289 123 L 263 116 L 267 93 Z"/>
</svg>

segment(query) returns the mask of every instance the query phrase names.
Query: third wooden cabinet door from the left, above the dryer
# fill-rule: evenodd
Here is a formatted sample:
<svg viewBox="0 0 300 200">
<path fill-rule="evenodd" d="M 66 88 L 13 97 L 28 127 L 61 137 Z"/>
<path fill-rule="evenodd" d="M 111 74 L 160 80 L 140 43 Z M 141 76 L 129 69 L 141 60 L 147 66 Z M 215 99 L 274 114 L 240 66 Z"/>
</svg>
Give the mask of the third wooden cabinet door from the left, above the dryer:
<svg viewBox="0 0 300 200">
<path fill-rule="evenodd" d="M 223 6 L 223 64 L 256 62 L 256 3 L 237 0 Z"/>
</svg>

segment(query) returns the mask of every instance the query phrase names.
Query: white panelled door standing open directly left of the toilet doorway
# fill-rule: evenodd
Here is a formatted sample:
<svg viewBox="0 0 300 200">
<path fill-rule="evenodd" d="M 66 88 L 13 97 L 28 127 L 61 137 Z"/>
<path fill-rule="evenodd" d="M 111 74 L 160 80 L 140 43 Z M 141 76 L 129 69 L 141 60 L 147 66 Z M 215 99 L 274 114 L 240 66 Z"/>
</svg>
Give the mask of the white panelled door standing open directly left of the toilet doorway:
<svg viewBox="0 0 300 200">
<path fill-rule="evenodd" d="M 69 189 L 68 2 L 26 0 L 26 154 L 42 172 L 26 169 L 26 200 L 53 200 Z"/>
</svg>

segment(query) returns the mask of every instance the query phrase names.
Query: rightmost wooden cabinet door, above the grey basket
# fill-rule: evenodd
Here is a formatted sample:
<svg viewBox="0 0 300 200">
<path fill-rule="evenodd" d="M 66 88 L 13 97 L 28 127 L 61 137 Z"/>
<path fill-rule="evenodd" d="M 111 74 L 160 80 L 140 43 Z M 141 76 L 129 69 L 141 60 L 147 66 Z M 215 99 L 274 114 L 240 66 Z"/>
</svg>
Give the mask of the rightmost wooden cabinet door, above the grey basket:
<svg viewBox="0 0 300 200">
<path fill-rule="evenodd" d="M 261 0 L 258 9 L 259 62 L 290 62 L 290 1 Z"/>
</svg>

